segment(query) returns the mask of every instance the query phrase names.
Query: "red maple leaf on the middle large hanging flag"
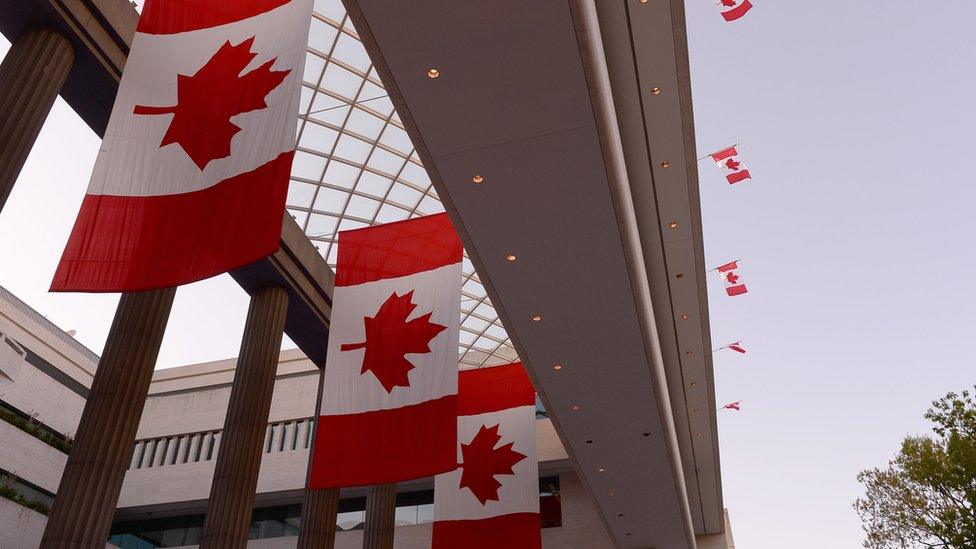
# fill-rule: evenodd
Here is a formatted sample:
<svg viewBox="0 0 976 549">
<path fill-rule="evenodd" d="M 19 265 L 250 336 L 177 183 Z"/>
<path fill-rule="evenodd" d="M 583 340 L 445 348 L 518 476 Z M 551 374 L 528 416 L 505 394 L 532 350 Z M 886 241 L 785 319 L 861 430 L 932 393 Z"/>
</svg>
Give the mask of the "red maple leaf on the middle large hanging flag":
<svg viewBox="0 0 976 549">
<path fill-rule="evenodd" d="M 393 292 L 380 306 L 376 316 L 363 318 L 366 341 L 344 343 L 340 347 L 342 351 L 365 348 L 363 369 L 359 373 L 373 372 L 388 393 L 392 393 L 394 387 L 410 386 L 407 374 L 414 365 L 404 355 L 429 353 L 430 340 L 447 329 L 447 326 L 430 322 L 432 313 L 407 322 L 407 317 L 417 308 L 412 300 L 413 290 L 403 296 Z"/>
</svg>

